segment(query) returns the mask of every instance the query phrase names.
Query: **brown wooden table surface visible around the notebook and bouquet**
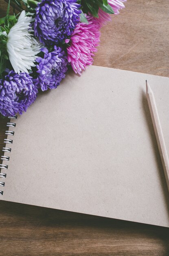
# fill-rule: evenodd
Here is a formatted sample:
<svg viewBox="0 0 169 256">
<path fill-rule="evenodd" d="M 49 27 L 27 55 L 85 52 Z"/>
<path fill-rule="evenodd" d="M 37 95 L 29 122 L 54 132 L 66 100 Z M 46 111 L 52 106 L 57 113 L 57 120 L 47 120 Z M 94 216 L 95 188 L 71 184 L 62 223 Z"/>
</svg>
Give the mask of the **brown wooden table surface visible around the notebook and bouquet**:
<svg viewBox="0 0 169 256">
<path fill-rule="evenodd" d="M 169 76 L 169 0 L 125 5 L 102 29 L 94 64 Z M 5 11 L 0 0 L 0 17 Z M 0 120 L 0 148 L 6 122 Z M 169 229 L 1 201 L 0 255 L 167 256 Z"/>
</svg>

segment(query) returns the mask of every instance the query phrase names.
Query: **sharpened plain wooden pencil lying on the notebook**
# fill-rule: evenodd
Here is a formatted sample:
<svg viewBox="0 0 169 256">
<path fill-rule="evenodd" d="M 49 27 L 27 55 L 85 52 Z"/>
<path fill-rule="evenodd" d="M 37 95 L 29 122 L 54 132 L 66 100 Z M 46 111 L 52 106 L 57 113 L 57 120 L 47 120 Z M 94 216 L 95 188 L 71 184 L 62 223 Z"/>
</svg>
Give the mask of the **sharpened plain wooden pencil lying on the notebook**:
<svg viewBox="0 0 169 256">
<path fill-rule="evenodd" d="M 151 87 L 149 86 L 149 83 L 147 82 L 147 80 L 146 80 L 146 96 L 147 96 L 147 101 L 149 104 L 149 110 L 151 113 L 151 119 L 152 119 L 153 126 L 154 126 L 158 149 L 160 151 L 160 157 L 161 157 L 162 166 L 163 166 L 164 173 L 165 173 L 165 179 L 166 179 L 167 187 L 169 190 L 169 157 L 168 157 L 167 148 L 165 145 L 164 136 L 162 133 L 160 118 L 158 115 L 158 110 L 157 110 L 156 101 L 154 98 L 154 93 L 151 90 Z"/>
</svg>

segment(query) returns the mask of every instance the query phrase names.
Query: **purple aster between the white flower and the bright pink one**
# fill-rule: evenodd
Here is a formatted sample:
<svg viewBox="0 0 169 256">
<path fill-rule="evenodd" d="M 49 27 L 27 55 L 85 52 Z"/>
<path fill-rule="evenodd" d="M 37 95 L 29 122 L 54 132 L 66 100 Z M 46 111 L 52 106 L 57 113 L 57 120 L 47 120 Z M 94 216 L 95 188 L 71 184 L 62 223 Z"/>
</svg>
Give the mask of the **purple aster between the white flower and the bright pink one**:
<svg viewBox="0 0 169 256">
<path fill-rule="evenodd" d="M 61 79 L 65 78 L 68 69 L 66 54 L 57 46 L 54 46 L 53 52 L 48 52 L 46 48 L 42 48 L 41 51 L 44 52 L 44 58 L 38 57 L 36 59 L 38 76 L 34 83 L 42 91 L 47 90 L 47 88 L 55 89 Z"/>
</svg>

